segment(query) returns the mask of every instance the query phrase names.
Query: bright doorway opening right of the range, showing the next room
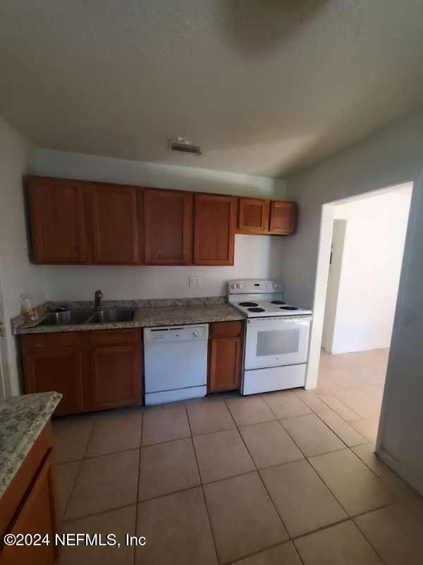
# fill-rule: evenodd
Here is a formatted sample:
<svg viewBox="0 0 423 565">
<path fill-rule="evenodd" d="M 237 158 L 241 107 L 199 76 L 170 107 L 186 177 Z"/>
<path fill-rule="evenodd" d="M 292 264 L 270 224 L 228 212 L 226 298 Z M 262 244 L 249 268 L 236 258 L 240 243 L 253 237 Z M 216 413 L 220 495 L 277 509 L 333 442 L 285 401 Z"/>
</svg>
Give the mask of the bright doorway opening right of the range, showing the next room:
<svg viewBox="0 0 423 565">
<path fill-rule="evenodd" d="M 412 182 L 323 206 L 306 388 L 376 443 Z"/>
</svg>

